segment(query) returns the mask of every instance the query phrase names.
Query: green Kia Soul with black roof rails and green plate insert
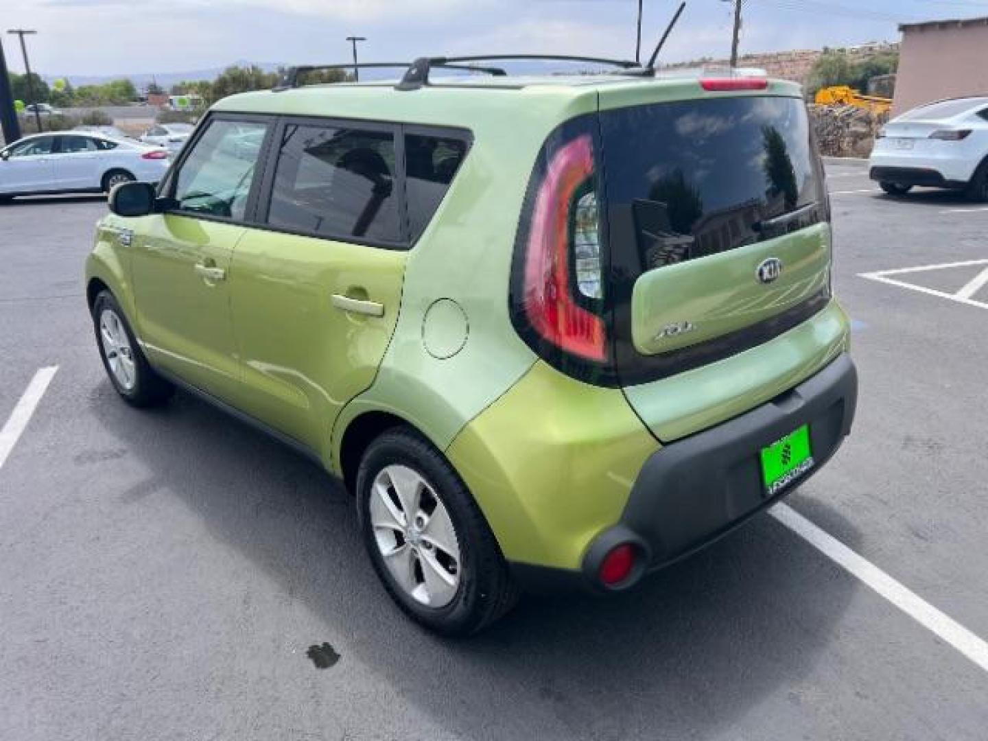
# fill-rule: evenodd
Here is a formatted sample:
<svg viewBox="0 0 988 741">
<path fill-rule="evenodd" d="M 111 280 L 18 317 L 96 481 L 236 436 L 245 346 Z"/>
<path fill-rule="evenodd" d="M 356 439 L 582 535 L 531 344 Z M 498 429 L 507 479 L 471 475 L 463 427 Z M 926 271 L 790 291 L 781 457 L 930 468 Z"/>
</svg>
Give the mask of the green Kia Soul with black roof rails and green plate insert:
<svg viewBox="0 0 988 741">
<path fill-rule="evenodd" d="M 220 101 L 86 266 L 124 400 L 180 386 L 318 459 L 447 634 L 724 535 L 857 400 L 798 86 L 457 61 Z"/>
</svg>

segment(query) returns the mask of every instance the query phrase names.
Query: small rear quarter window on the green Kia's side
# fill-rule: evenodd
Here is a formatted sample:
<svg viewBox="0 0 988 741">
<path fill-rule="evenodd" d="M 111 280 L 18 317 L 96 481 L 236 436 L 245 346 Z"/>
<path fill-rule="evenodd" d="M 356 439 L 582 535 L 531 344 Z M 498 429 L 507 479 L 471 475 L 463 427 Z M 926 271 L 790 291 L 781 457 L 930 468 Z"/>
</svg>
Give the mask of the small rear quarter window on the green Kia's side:
<svg viewBox="0 0 988 741">
<path fill-rule="evenodd" d="M 407 134 L 405 136 L 405 193 L 410 239 L 425 231 L 453 177 L 466 156 L 465 138 Z"/>
</svg>

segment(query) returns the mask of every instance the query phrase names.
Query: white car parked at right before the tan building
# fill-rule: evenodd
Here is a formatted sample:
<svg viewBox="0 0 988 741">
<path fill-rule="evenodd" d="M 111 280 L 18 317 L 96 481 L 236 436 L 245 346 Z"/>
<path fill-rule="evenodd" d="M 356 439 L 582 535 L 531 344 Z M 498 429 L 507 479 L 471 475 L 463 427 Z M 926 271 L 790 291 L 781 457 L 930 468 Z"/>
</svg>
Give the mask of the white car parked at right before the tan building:
<svg viewBox="0 0 988 741">
<path fill-rule="evenodd" d="M 893 196 L 932 186 L 988 202 L 988 97 L 939 101 L 893 119 L 874 143 L 869 168 L 871 180 Z"/>
</svg>

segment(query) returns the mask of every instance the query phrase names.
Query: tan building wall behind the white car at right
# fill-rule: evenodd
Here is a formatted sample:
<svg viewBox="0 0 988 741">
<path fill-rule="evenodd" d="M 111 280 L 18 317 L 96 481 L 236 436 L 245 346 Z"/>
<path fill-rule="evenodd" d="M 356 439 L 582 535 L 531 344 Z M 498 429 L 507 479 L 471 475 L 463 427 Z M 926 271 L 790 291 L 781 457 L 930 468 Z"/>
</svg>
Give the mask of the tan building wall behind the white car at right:
<svg viewBox="0 0 988 741">
<path fill-rule="evenodd" d="M 892 115 L 924 103 L 988 95 L 988 18 L 904 24 Z"/>
</svg>

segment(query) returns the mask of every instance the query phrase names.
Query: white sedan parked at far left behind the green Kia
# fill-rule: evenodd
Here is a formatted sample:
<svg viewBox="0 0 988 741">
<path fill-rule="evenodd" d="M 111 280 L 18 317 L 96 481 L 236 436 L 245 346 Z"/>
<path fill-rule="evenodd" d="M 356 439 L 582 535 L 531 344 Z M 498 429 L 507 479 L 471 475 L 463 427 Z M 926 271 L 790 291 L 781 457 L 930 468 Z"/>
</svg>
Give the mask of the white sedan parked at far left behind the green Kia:
<svg viewBox="0 0 988 741">
<path fill-rule="evenodd" d="M 157 183 L 168 153 L 95 133 L 36 133 L 0 149 L 0 200 L 44 193 L 105 193 L 120 183 Z"/>
</svg>

